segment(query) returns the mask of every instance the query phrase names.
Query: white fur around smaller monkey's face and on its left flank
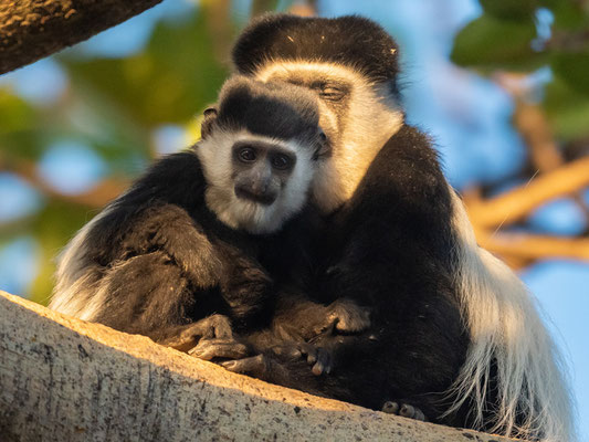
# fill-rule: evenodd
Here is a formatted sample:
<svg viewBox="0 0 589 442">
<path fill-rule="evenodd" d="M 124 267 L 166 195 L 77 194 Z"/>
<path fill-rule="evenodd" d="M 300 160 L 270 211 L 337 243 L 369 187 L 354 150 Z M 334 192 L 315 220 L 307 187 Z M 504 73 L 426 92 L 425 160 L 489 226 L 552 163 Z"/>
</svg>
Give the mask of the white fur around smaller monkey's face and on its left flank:
<svg viewBox="0 0 589 442">
<path fill-rule="evenodd" d="M 248 202 L 235 197 L 231 179 L 231 152 L 235 141 L 266 141 L 278 144 L 294 151 L 297 157 L 287 186 L 270 207 Z M 272 233 L 302 209 L 307 200 L 314 175 L 312 149 L 295 141 L 284 141 L 255 136 L 246 130 L 225 133 L 215 130 L 197 146 L 203 173 L 208 183 L 206 201 L 217 217 L 232 229 L 251 233 Z M 105 209 L 82 228 L 59 257 L 56 285 L 49 307 L 55 312 L 94 320 L 104 311 L 108 281 L 103 278 L 94 263 L 86 259 L 87 232 L 108 213 Z M 112 272 L 111 272 L 112 274 Z"/>
</svg>

